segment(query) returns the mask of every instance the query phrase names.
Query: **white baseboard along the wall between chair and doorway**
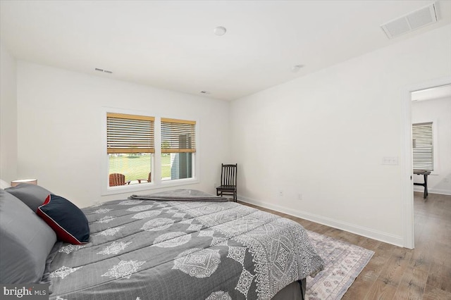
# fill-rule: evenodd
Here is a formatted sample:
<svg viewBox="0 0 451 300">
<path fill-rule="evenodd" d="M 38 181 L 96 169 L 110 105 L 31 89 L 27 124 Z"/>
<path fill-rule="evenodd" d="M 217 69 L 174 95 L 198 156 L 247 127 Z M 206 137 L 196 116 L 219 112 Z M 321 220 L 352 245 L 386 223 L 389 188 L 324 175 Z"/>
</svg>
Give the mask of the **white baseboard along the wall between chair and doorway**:
<svg viewBox="0 0 451 300">
<path fill-rule="evenodd" d="M 309 220 L 311 222 L 319 223 L 322 225 L 326 225 L 329 227 L 334 227 L 340 230 L 345 230 L 347 232 L 354 233 L 356 235 L 362 235 L 362 237 L 368 237 L 370 239 L 376 239 L 381 242 L 385 242 L 388 244 L 393 244 L 395 246 L 402 247 L 404 245 L 404 239 L 398 235 L 390 235 L 386 232 L 381 232 L 378 230 L 372 230 L 371 228 L 362 227 L 359 225 L 354 225 L 351 223 L 345 223 L 339 220 L 334 220 L 332 218 L 327 218 L 322 215 L 315 215 L 313 213 L 307 213 L 305 211 L 298 211 L 296 209 L 287 208 L 285 206 L 278 206 L 276 204 L 270 204 L 264 201 L 257 201 L 254 199 L 250 199 L 245 196 L 237 196 L 239 201 L 253 204 L 257 206 L 261 206 L 264 208 L 271 209 L 273 211 L 278 211 L 280 213 L 286 213 L 288 215 L 293 215 L 297 218 L 302 218 L 304 220 Z"/>
</svg>

